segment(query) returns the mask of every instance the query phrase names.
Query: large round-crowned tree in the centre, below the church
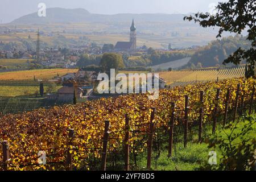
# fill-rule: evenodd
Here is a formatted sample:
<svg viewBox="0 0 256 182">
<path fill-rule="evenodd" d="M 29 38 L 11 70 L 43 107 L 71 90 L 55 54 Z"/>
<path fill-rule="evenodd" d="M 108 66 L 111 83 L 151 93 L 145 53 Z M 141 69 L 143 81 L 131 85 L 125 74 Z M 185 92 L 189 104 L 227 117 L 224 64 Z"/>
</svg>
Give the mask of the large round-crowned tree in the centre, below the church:
<svg viewBox="0 0 256 182">
<path fill-rule="evenodd" d="M 118 69 L 123 68 L 123 59 L 122 56 L 117 53 L 104 53 L 102 56 L 100 67 L 103 72 L 110 73 L 110 69 Z"/>
</svg>

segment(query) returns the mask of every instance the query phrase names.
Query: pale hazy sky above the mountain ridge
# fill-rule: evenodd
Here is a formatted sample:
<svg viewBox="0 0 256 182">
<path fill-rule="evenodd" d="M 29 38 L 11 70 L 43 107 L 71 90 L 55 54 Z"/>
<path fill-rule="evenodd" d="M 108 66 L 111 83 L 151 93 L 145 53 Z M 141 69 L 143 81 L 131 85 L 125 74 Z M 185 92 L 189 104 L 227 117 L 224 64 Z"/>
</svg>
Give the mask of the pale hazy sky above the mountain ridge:
<svg viewBox="0 0 256 182">
<path fill-rule="evenodd" d="M 209 11 L 210 3 L 225 0 L 0 0 L 2 23 L 38 11 L 38 3 L 48 7 L 83 8 L 90 13 L 195 13 Z"/>
</svg>

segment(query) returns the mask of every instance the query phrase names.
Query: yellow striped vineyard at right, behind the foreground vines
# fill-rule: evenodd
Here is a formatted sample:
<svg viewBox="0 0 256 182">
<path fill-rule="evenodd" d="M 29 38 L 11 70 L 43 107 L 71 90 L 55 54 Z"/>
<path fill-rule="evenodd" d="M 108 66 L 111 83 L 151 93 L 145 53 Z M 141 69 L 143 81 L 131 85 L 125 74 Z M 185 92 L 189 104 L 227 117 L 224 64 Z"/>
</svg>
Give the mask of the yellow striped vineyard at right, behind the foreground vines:
<svg viewBox="0 0 256 182">
<path fill-rule="evenodd" d="M 159 76 L 167 81 L 167 84 L 173 82 L 194 82 L 194 81 L 214 81 L 229 78 L 240 78 L 245 75 L 245 67 L 227 68 L 227 69 L 199 69 L 196 71 L 171 71 L 160 72 Z"/>
</svg>

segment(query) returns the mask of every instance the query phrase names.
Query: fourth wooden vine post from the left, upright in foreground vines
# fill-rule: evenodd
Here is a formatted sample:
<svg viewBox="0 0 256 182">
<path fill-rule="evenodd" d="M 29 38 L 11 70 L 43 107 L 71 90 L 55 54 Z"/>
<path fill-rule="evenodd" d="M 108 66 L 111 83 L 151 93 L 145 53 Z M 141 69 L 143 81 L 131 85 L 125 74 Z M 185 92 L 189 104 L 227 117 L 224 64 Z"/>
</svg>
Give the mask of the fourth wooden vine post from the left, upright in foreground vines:
<svg viewBox="0 0 256 182">
<path fill-rule="evenodd" d="M 125 171 L 129 171 L 130 164 L 129 164 L 129 115 L 125 114 Z"/>
</svg>

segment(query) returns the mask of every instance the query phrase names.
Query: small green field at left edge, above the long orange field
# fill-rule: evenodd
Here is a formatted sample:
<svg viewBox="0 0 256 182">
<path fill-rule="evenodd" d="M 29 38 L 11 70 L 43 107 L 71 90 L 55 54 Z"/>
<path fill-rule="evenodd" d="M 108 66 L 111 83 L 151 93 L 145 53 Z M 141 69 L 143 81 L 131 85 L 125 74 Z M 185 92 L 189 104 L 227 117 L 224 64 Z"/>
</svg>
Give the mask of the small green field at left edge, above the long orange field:
<svg viewBox="0 0 256 182">
<path fill-rule="evenodd" d="M 28 68 L 31 59 L 0 59 L 0 67 L 7 69 Z"/>
</svg>

